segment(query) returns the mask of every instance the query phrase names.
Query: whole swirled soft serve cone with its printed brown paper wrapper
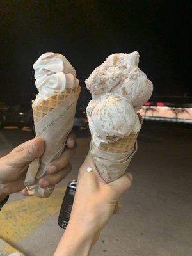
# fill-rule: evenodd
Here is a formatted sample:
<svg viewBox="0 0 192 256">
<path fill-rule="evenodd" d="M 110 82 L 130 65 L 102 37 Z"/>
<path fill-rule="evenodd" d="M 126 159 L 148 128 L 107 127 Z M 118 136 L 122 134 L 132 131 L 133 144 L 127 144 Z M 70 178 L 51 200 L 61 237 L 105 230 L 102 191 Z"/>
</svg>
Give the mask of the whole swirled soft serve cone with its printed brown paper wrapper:
<svg viewBox="0 0 192 256">
<path fill-rule="evenodd" d="M 38 180 L 45 175 L 47 164 L 63 152 L 81 87 L 76 70 L 61 54 L 42 54 L 33 68 L 38 89 L 32 104 L 33 118 L 36 136 L 45 141 L 45 152 L 29 165 L 25 184 L 29 195 L 48 197 L 53 187 L 41 188 Z"/>
</svg>

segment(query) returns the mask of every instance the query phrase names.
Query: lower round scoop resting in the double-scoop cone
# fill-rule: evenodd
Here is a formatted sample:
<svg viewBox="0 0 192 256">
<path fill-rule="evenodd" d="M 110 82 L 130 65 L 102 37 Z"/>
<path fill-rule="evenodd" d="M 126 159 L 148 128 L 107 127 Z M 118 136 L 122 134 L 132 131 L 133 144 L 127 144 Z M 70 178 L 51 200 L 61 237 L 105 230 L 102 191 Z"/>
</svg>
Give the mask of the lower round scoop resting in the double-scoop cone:
<svg viewBox="0 0 192 256">
<path fill-rule="evenodd" d="M 91 100 L 86 112 L 97 147 L 137 133 L 141 128 L 138 115 L 125 97 L 107 93 L 100 100 Z"/>
</svg>

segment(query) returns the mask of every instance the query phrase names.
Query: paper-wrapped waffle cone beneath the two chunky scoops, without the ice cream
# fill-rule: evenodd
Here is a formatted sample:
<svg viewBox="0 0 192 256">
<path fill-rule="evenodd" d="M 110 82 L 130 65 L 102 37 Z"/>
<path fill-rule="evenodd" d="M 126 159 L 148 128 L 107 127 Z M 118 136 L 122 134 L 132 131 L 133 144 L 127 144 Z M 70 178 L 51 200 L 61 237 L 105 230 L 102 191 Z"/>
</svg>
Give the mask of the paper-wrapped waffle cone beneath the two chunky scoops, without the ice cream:
<svg viewBox="0 0 192 256">
<path fill-rule="evenodd" d="M 138 115 L 140 123 L 142 118 Z M 130 134 L 115 142 L 101 143 L 99 147 L 90 144 L 90 152 L 93 161 L 100 174 L 100 177 L 106 182 L 112 182 L 126 173 L 127 167 L 131 162 L 132 156 L 137 151 L 138 133 Z"/>
</svg>

